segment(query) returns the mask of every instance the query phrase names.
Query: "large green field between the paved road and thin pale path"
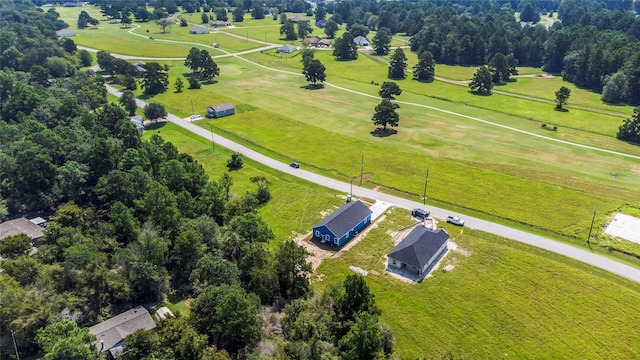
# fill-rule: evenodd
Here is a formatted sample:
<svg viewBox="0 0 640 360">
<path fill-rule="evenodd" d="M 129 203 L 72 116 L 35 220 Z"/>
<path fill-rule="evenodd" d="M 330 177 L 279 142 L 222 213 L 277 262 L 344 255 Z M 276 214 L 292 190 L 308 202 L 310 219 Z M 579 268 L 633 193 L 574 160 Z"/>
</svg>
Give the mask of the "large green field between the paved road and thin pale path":
<svg viewBox="0 0 640 360">
<path fill-rule="evenodd" d="M 359 175 L 364 153 L 366 186 L 415 198 L 422 194 L 424 172 L 430 168 L 430 199 L 562 235 L 582 238 L 593 209 L 604 221 L 630 199 L 640 199 L 633 159 L 446 114 L 425 117 L 424 110 L 409 106 L 401 108 L 398 134 L 374 137 L 369 112 L 378 100 L 331 87 L 305 90 L 301 76 L 268 73 L 240 60 L 219 63 L 219 83 L 154 100 L 182 116 L 191 114 L 191 100 L 200 113 L 231 101 L 239 113 L 214 120 L 216 131 L 283 161 L 299 161 L 348 180 Z M 180 73 L 178 65 L 174 71 L 173 76 Z M 620 174 L 615 182 L 612 172 Z"/>
</svg>

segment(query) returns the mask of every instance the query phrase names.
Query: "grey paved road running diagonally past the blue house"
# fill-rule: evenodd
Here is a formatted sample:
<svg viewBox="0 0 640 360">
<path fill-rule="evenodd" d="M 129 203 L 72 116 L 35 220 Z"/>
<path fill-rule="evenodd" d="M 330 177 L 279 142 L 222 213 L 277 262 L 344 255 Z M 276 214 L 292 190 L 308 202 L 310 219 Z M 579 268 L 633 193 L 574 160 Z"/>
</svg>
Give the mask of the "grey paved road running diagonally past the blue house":
<svg viewBox="0 0 640 360">
<path fill-rule="evenodd" d="M 107 90 L 112 95 L 115 95 L 117 97 L 120 97 L 122 95 L 122 92 L 120 92 L 119 90 L 109 85 L 106 85 L 106 86 L 107 86 Z M 136 99 L 136 102 L 139 107 L 144 107 L 146 105 L 146 103 L 143 100 Z M 261 164 L 269 166 L 280 172 L 299 177 L 306 181 L 313 182 L 318 185 L 322 185 L 324 187 L 343 192 L 345 194 L 349 193 L 350 191 L 351 184 L 349 183 L 331 179 L 322 175 L 318 175 L 316 173 L 306 171 L 304 169 L 294 169 L 290 167 L 288 164 L 282 163 L 266 155 L 260 154 L 254 150 L 251 150 L 227 138 L 221 137 L 220 135 L 212 134 L 209 130 L 206 130 L 197 125 L 194 125 L 173 114 L 168 114 L 167 120 L 207 140 L 213 139 L 213 141 L 215 141 L 215 143 L 220 146 L 223 146 L 234 152 L 239 152 L 243 156 L 246 156 L 247 158 L 250 158 Z M 405 209 L 423 207 L 422 203 L 419 203 L 416 201 L 411 201 L 408 199 L 381 193 L 378 191 L 374 191 L 374 190 L 359 187 L 359 186 L 353 186 L 353 194 L 358 197 L 367 197 L 367 198 L 375 199 L 376 201 L 386 202 L 390 205 L 398 206 Z M 434 206 L 428 206 L 428 209 L 431 211 L 431 214 L 436 218 L 445 219 L 448 215 L 459 216 L 465 219 L 465 226 L 470 229 L 481 230 L 481 231 L 498 235 L 507 239 L 511 239 L 511 240 L 519 241 L 521 243 L 525 243 L 528 245 L 536 246 L 538 248 L 545 249 L 560 255 L 564 255 L 574 260 L 581 261 L 583 263 L 603 269 L 610 273 L 622 276 L 636 283 L 640 283 L 640 269 L 619 263 L 615 260 L 609 259 L 602 255 L 597 255 L 597 254 L 588 252 L 586 250 L 573 247 L 571 245 L 567 245 L 551 239 L 547 239 L 542 236 L 530 234 L 525 231 L 513 229 L 508 226 L 495 224 L 495 223 L 477 219 L 477 218 L 472 218 L 466 215 L 458 214 L 458 213 L 437 208 Z"/>
</svg>

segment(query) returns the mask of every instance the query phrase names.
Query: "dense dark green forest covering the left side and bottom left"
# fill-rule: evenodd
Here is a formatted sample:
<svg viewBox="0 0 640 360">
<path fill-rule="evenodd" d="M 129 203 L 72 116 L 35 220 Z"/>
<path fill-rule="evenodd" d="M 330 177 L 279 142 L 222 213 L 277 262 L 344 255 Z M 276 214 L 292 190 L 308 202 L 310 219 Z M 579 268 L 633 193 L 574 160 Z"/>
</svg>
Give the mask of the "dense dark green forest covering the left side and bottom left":
<svg viewBox="0 0 640 360">
<path fill-rule="evenodd" d="M 57 38 L 54 9 L 0 6 L 0 220 L 49 218 L 37 252 L 26 235 L 0 243 L 0 358 L 95 359 L 88 326 L 168 296 L 190 313 L 131 334 L 121 358 L 391 356 L 361 276 L 314 294 L 306 251 L 267 246 L 266 178 L 235 194 L 228 173 L 210 179 L 157 134 L 143 141 L 82 70 L 91 58 Z"/>
</svg>

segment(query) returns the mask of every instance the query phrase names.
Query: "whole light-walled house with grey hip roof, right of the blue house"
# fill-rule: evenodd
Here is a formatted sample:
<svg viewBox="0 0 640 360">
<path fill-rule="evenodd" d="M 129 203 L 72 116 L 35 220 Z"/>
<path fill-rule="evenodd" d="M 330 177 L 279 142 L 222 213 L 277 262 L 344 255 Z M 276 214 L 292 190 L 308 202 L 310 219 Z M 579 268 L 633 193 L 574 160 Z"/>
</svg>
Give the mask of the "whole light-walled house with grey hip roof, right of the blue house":
<svg viewBox="0 0 640 360">
<path fill-rule="evenodd" d="M 417 226 L 389 255 L 389 267 L 422 275 L 447 250 L 449 234 L 444 229 Z"/>
</svg>

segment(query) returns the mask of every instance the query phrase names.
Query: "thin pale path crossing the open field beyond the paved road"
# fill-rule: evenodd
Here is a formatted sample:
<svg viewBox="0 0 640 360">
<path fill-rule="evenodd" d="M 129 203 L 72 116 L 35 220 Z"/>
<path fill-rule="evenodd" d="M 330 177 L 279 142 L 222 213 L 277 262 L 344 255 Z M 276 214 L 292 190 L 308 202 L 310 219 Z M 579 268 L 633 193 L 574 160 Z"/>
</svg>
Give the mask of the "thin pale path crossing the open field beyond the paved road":
<svg viewBox="0 0 640 360">
<path fill-rule="evenodd" d="M 249 62 L 249 63 L 251 63 L 251 64 L 253 64 L 253 65 L 255 65 L 255 66 L 259 66 L 259 67 L 261 67 L 261 68 L 263 68 L 263 69 L 267 69 L 267 70 L 274 71 L 274 72 L 280 72 L 280 73 L 285 73 L 285 74 L 295 75 L 295 76 L 304 76 L 304 75 L 302 75 L 302 74 L 300 74 L 300 73 L 294 73 L 294 72 L 292 72 L 292 71 L 288 71 L 288 70 L 281 70 L 281 69 L 274 69 L 274 68 L 270 68 L 270 67 L 268 67 L 268 66 L 265 66 L 265 65 L 262 65 L 262 64 L 256 63 L 256 62 L 254 62 L 254 61 L 252 61 L 252 60 L 249 60 L 249 59 L 245 59 L 245 58 L 243 58 L 243 57 L 241 57 L 241 56 L 238 56 L 238 55 L 234 55 L 234 56 L 236 56 L 237 58 L 242 59 L 242 60 L 244 60 L 244 61 L 247 61 L 247 62 Z M 370 95 L 370 94 L 366 94 L 366 93 L 363 93 L 363 92 L 360 92 L 360 91 L 355 91 L 355 90 L 347 89 L 347 88 L 344 88 L 344 87 L 341 87 L 341 86 L 338 86 L 338 85 L 331 84 L 331 83 L 329 83 L 329 82 L 325 82 L 324 84 L 325 84 L 325 85 L 328 85 L 328 86 L 331 86 L 331 87 L 333 87 L 333 88 L 336 88 L 336 89 L 342 90 L 342 91 L 346 91 L 346 92 L 350 92 L 350 93 L 356 94 L 356 95 L 360 95 L 360 96 L 364 96 L 364 97 L 369 97 L 369 98 L 374 98 L 374 99 L 380 99 L 380 97 L 379 97 L 379 96 Z M 622 152 L 618 152 L 618 151 L 602 149 L 602 148 L 598 148 L 598 147 L 594 147 L 594 146 L 589 146 L 589 145 L 584 145 L 584 144 L 578 144 L 578 143 L 574 143 L 574 142 L 570 142 L 570 141 L 565 141 L 565 140 L 561 140 L 561 139 L 554 139 L 554 138 L 552 138 L 552 137 L 548 137 L 548 136 L 544 136 L 544 135 L 536 134 L 536 133 L 533 133 L 533 132 L 530 132 L 530 131 L 520 130 L 520 129 L 517 129 L 517 128 L 514 128 L 514 127 L 511 127 L 511 126 L 507 126 L 507 125 L 502 125 L 502 124 L 494 123 L 494 122 L 491 122 L 491 121 L 488 121 L 488 120 L 479 119 L 479 118 L 476 118 L 476 117 L 473 117 L 473 116 L 464 115 L 464 114 L 456 113 L 456 112 L 449 111 L 449 110 L 440 109 L 440 108 L 433 107 L 433 106 L 429 106 L 429 105 L 417 104 L 417 103 L 411 103 L 411 102 L 405 102 L 405 101 L 400 101 L 400 100 L 394 100 L 394 102 L 396 102 L 396 103 L 398 103 L 398 104 L 410 105 L 410 106 L 418 106 L 418 107 L 423 107 L 423 108 L 430 109 L 430 110 L 434 110 L 434 111 L 443 112 L 443 113 L 445 113 L 445 114 L 449 114 L 449 115 L 453 115 L 453 116 L 457 116 L 457 117 L 462 117 L 462 118 L 469 119 L 469 120 L 473 120 L 473 121 L 482 122 L 482 123 L 485 123 L 485 124 L 487 124 L 487 125 L 497 126 L 497 127 L 503 128 L 503 129 L 505 129 L 505 130 L 510 130 L 510 131 L 519 132 L 519 133 L 521 133 L 521 134 L 525 134 L 525 135 L 528 135 L 528 136 L 537 137 L 537 138 L 544 139 L 544 140 L 547 140 L 547 141 L 554 141 L 554 142 L 558 142 L 558 143 L 565 144 L 565 145 L 569 145 L 569 146 L 576 146 L 576 147 L 580 147 L 580 148 L 584 148 L 584 149 L 589 149 L 589 150 L 594 150 L 594 151 L 599 151 L 599 152 L 609 153 L 609 154 L 613 154 L 613 155 L 617 155 L 617 156 L 624 156 L 624 157 L 629 157 L 629 158 L 633 158 L 633 159 L 638 159 L 638 160 L 640 160 L 640 156 L 637 156 L 637 155 L 626 154 L 626 153 L 622 153 Z"/>
</svg>

